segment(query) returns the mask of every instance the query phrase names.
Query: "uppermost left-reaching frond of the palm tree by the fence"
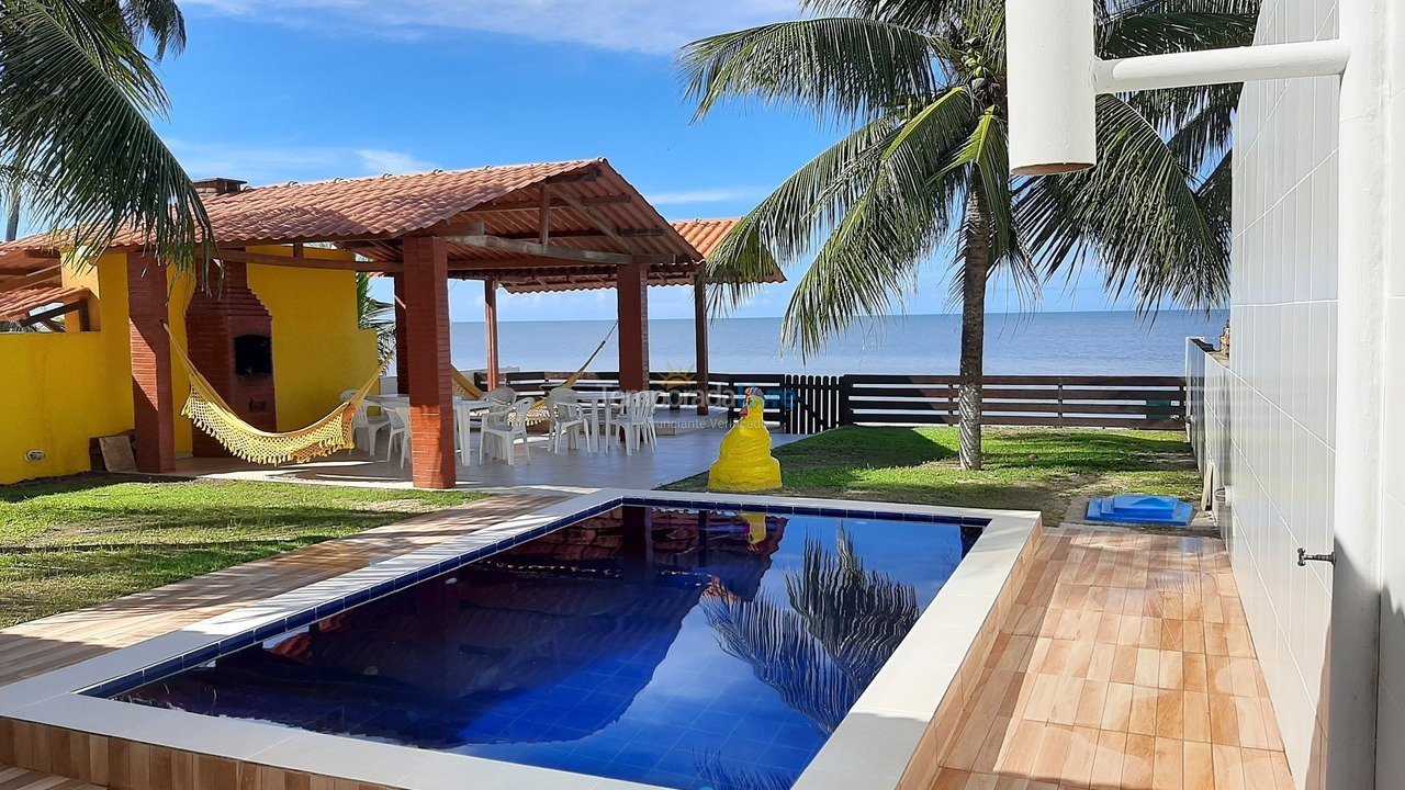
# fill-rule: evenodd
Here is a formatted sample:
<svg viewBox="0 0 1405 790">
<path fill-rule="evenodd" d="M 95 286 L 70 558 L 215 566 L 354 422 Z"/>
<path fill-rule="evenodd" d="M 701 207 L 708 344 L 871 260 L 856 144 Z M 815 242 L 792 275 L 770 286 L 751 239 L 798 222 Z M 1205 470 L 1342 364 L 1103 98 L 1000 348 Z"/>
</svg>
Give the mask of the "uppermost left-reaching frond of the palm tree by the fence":
<svg viewBox="0 0 1405 790">
<path fill-rule="evenodd" d="M 922 30 L 828 17 L 728 32 L 674 59 L 697 118 L 725 100 L 808 110 L 843 124 L 871 119 L 937 89 L 936 44 Z"/>
</svg>

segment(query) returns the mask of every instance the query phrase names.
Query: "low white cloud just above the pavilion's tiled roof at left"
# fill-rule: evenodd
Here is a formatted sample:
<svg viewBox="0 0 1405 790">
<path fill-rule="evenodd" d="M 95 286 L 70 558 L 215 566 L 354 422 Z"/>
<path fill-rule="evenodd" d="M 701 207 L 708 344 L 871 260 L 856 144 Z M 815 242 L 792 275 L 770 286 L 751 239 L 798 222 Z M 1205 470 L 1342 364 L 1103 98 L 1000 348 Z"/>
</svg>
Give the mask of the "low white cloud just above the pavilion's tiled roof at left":
<svg viewBox="0 0 1405 790">
<path fill-rule="evenodd" d="M 434 164 L 412 153 L 375 148 L 242 146 L 192 143 L 181 139 L 166 142 L 192 179 L 221 176 L 242 179 L 254 186 L 434 169 Z"/>
</svg>

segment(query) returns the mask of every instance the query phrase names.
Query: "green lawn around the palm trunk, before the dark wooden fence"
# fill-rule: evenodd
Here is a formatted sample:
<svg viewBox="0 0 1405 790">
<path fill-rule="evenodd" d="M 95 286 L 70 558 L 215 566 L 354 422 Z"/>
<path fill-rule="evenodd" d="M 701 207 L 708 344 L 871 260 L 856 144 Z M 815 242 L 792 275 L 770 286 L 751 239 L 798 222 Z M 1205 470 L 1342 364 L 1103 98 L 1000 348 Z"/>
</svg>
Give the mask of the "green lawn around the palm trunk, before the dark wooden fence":
<svg viewBox="0 0 1405 790">
<path fill-rule="evenodd" d="M 776 450 L 790 496 L 1040 510 L 1064 520 L 1078 496 L 1172 493 L 1198 499 L 1180 433 L 986 429 L 985 468 L 957 464 L 955 427 L 844 427 Z M 707 475 L 667 488 L 704 491 Z"/>
</svg>

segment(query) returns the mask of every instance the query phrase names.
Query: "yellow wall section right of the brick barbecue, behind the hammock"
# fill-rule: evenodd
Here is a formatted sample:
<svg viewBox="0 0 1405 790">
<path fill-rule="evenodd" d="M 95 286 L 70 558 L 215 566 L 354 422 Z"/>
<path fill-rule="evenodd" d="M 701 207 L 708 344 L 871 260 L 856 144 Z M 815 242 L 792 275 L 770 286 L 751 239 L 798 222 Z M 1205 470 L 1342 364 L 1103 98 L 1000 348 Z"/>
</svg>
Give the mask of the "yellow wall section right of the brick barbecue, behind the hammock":
<svg viewBox="0 0 1405 790">
<path fill-rule="evenodd" d="M 285 247 L 250 249 L 278 254 Z M 309 257 L 350 253 L 308 249 Z M 375 373 L 375 332 L 357 325 L 355 273 L 249 266 L 249 288 L 273 315 L 273 377 L 278 430 L 306 427 Z"/>
</svg>

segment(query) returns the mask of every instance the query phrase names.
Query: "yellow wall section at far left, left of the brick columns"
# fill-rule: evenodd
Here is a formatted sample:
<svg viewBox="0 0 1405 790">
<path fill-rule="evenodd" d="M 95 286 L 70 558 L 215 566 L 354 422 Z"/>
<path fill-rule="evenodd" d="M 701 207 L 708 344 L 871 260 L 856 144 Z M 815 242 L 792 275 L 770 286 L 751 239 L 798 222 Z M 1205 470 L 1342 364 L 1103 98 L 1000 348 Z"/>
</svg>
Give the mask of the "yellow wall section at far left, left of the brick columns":
<svg viewBox="0 0 1405 790">
<path fill-rule="evenodd" d="M 132 427 L 126 257 L 65 281 L 98 295 L 100 332 L 0 333 L 0 484 L 90 468 L 89 440 Z M 42 450 L 45 460 L 27 461 Z"/>
</svg>

